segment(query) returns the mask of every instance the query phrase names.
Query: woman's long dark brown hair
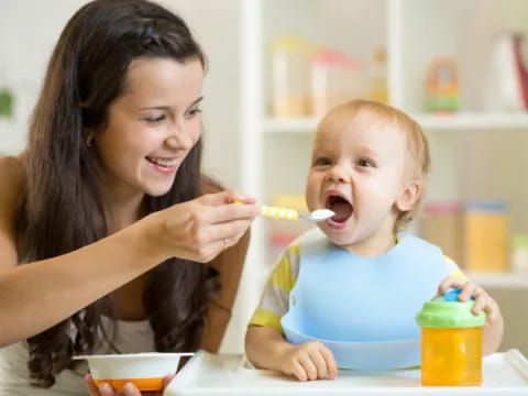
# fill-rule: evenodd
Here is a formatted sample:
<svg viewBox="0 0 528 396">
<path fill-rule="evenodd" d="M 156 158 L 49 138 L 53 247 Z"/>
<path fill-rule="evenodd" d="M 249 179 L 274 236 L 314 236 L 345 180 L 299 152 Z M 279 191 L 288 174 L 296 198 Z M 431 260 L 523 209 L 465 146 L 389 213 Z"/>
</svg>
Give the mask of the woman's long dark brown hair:
<svg viewBox="0 0 528 396">
<path fill-rule="evenodd" d="M 98 157 L 84 131 L 105 125 L 109 105 L 123 91 L 129 65 L 140 56 L 177 62 L 205 56 L 185 22 L 145 0 L 96 0 L 67 23 L 51 57 L 32 114 L 28 185 L 20 211 L 25 260 L 72 252 L 108 234 L 100 197 Z M 145 196 L 145 215 L 200 194 L 201 141 L 183 162 L 170 190 Z M 157 351 L 199 346 L 217 274 L 202 264 L 172 258 L 147 276 L 143 296 Z M 112 345 L 102 315 L 105 297 L 28 340 L 32 383 L 50 387 L 73 369 L 74 354 L 91 353 L 102 338 Z"/>
</svg>

